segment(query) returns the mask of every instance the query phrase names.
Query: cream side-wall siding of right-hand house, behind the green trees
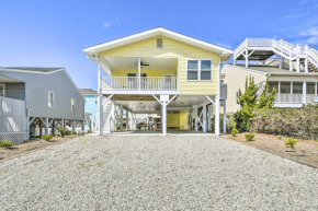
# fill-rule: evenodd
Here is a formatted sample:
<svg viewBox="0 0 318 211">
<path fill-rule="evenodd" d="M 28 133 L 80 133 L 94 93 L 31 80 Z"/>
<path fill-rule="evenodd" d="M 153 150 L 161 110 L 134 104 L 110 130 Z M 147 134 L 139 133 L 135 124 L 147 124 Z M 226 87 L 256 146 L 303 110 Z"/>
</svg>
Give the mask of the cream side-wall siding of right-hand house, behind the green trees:
<svg viewBox="0 0 318 211">
<path fill-rule="evenodd" d="M 236 102 L 236 93 L 239 91 L 239 89 L 242 92 L 245 91 L 247 77 L 252 75 L 254 78 L 255 84 L 262 83 L 266 80 L 266 75 L 264 73 L 230 65 L 225 65 L 222 69 L 222 72 L 226 74 L 224 83 L 227 83 L 227 113 L 235 113 L 240 108 Z"/>
</svg>

